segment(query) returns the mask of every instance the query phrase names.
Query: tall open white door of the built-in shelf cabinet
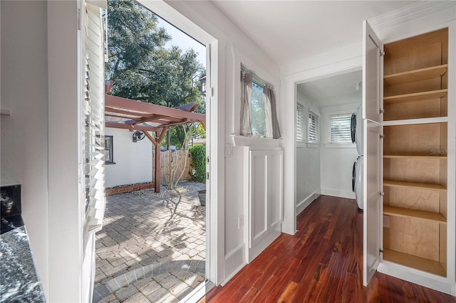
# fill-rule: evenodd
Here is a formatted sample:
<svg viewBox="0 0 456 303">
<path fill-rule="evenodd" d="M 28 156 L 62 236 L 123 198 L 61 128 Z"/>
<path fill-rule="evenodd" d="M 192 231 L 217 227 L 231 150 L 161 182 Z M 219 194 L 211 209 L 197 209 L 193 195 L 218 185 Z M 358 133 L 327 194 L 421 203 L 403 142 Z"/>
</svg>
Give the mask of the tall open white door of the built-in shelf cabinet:
<svg viewBox="0 0 456 303">
<path fill-rule="evenodd" d="M 367 21 L 363 33 L 363 284 L 368 285 L 380 262 L 382 243 L 383 44 Z"/>
</svg>

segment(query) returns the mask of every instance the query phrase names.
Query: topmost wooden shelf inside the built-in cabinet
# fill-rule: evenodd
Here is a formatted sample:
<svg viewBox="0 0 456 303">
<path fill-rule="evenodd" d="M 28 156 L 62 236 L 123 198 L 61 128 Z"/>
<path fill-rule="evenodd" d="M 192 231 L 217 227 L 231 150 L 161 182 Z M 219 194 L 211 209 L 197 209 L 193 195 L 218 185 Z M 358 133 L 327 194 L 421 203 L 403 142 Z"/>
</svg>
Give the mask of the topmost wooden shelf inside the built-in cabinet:
<svg viewBox="0 0 456 303">
<path fill-rule="evenodd" d="M 448 70 L 448 65 L 437 65 L 430 68 L 421 68 L 419 70 L 410 70 L 408 72 L 397 73 L 393 75 L 385 75 L 383 77 L 383 83 L 386 85 L 395 85 L 400 83 L 408 83 L 419 80 L 426 80 L 437 78 L 445 75 Z"/>
</svg>

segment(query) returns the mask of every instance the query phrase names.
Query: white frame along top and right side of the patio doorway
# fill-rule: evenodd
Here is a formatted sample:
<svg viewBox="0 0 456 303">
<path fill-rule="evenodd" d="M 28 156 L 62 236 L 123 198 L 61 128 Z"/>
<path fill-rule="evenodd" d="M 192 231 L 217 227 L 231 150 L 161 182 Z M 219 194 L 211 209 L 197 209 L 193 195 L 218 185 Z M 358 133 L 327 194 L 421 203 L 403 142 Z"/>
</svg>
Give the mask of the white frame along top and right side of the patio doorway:
<svg viewBox="0 0 456 303">
<path fill-rule="evenodd" d="M 220 149 L 219 144 L 217 144 L 217 138 L 220 137 L 217 133 L 220 126 L 224 125 L 224 119 L 220 119 L 219 115 L 217 115 L 219 112 L 217 102 L 219 41 L 164 1 L 137 1 L 154 14 L 160 16 L 160 18 L 165 19 L 165 21 L 206 46 L 206 130 L 209 134 L 209 144 L 206 145 L 206 156 L 209 159 L 206 162 L 209 163 L 206 166 L 206 171 L 209 174 L 209 178 L 206 182 L 207 199 L 209 202 L 214 201 L 213 203 L 207 203 L 206 212 L 206 281 L 208 285 L 219 285 L 221 274 L 223 274 L 223 262 L 220 257 L 223 256 L 222 248 L 224 244 L 224 220 L 219 220 L 221 209 L 223 209 L 223 200 L 219 198 L 219 195 L 222 193 L 221 189 L 224 187 L 224 180 L 219 181 L 221 172 L 219 164 Z M 217 117 L 217 119 L 211 119 L 211 117 Z M 214 218 L 217 218 L 217 220 L 214 220 Z M 204 291 L 204 294 L 209 290 L 208 287 L 198 289 L 200 292 Z M 197 297 L 196 294 L 195 297 Z"/>
</svg>

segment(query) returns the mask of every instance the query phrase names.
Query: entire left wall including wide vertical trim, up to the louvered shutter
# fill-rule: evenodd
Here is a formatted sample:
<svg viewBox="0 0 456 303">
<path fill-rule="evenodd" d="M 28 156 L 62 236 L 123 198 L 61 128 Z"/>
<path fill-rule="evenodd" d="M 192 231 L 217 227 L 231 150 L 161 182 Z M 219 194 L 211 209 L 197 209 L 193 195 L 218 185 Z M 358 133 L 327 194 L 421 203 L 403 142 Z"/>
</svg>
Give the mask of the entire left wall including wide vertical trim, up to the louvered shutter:
<svg viewBox="0 0 456 303">
<path fill-rule="evenodd" d="M 1 1 L 1 184 L 22 213 L 49 302 L 81 301 L 76 1 Z M 53 16 L 53 18 L 48 18 Z"/>
</svg>

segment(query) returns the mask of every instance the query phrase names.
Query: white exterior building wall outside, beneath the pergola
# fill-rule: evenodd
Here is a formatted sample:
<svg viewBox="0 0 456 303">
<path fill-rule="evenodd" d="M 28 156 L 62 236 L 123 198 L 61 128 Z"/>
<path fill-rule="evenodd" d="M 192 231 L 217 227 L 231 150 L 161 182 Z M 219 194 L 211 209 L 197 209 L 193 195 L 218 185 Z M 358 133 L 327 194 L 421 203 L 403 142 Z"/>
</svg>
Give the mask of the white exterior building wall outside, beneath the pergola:
<svg viewBox="0 0 456 303">
<path fill-rule="evenodd" d="M 106 128 L 113 136 L 113 161 L 106 164 L 106 188 L 152 182 L 152 142 L 147 137 L 133 143 L 133 132 L 128 129 Z"/>
</svg>

